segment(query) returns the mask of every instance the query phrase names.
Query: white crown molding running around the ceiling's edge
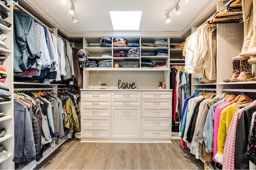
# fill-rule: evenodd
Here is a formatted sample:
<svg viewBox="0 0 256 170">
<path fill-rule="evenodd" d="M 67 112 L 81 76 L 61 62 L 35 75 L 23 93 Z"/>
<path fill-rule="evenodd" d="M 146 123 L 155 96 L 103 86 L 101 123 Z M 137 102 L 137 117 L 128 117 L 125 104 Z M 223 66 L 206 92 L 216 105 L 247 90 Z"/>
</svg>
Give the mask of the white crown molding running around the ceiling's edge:
<svg viewBox="0 0 256 170">
<path fill-rule="evenodd" d="M 86 37 L 86 36 L 168 36 L 168 37 L 182 37 L 191 29 L 191 27 L 197 27 L 207 20 L 208 16 L 216 12 L 216 3 L 218 0 L 209 1 L 196 16 L 186 25 L 182 31 L 80 31 L 72 32 L 68 31 L 61 25 L 56 19 L 54 19 L 40 4 L 34 0 L 19 0 L 19 3 L 23 8 L 35 15 L 39 20 L 43 21 L 48 27 L 56 27 L 63 35 L 68 38 L 71 37 Z M 40 9 L 40 10 L 35 10 Z M 211 14 L 209 14 L 211 13 Z"/>
</svg>

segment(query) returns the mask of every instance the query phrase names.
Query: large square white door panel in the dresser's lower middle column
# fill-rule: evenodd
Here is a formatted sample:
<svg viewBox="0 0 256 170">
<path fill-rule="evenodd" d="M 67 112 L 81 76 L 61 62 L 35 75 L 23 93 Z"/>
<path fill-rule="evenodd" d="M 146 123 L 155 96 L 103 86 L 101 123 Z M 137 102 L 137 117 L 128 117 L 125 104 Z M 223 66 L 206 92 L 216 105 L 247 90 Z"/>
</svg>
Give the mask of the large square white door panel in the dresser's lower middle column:
<svg viewBox="0 0 256 170">
<path fill-rule="evenodd" d="M 140 107 L 112 107 L 111 110 L 112 138 L 140 138 Z"/>
</svg>

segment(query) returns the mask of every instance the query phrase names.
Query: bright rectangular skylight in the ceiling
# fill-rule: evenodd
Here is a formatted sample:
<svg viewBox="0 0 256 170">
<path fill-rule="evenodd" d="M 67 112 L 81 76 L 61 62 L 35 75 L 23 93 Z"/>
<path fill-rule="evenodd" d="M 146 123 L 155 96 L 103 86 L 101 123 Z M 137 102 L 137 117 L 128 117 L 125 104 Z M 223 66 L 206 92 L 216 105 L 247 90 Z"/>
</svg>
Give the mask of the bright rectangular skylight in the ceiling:
<svg viewBox="0 0 256 170">
<path fill-rule="evenodd" d="M 110 11 L 114 30 L 139 30 L 142 11 Z"/>
</svg>

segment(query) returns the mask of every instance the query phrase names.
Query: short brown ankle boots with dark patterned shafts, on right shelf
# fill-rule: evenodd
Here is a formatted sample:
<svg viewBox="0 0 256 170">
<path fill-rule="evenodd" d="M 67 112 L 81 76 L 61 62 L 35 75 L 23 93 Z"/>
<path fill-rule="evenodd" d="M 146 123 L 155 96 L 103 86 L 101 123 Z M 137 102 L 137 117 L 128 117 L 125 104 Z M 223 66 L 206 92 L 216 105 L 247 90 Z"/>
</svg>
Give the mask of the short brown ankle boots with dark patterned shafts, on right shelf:
<svg viewBox="0 0 256 170">
<path fill-rule="evenodd" d="M 232 69 L 233 75 L 229 79 L 223 80 L 224 82 L 245 82 L 245 81 L 255 81 L 252 78 L 252 64 L 248 63 L 250 57 L 245 60 L 233 60 Z M 252 80 L 253 79 L 253 80 Z"/>
</svg>

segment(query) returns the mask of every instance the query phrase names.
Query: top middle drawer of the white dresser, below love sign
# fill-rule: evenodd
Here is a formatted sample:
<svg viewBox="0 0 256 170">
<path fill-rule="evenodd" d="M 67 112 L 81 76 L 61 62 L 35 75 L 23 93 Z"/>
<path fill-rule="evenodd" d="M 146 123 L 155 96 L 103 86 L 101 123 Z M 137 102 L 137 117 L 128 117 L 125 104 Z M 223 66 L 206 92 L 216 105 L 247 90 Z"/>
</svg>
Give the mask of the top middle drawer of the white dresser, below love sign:
<svg viewBox="0 0 256 170">
<path fill-rule="evenodd" d="M 118 91 L 112 91 L 111 92 L 111 98 L 112 99 L 140 99 L 141 98 L 141 92 L 134 91 L 124 91 L 124 92 L 118 92 Z"/>
</svg>

